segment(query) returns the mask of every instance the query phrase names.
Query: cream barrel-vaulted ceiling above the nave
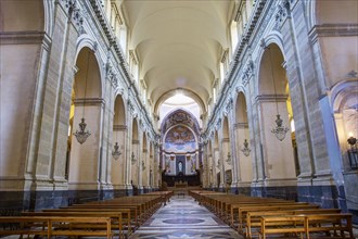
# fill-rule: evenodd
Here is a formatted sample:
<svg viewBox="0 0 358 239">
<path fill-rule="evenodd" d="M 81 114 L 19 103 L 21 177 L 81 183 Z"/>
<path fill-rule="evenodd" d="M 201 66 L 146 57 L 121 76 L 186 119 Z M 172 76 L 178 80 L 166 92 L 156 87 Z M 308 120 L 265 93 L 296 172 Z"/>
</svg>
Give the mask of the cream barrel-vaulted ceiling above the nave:
<svg viewBox="0 0 358 239">
<path fill-rule="evenodd" d="M 228 48 L 232 0 L 124 0 L 129 49 L 155 105 L 176 89 L 206 103 Z M 202 104 L 203 105 L 203 104 Z M 204 109 L 203 109 L 204 110 Z"/>
</svg>

